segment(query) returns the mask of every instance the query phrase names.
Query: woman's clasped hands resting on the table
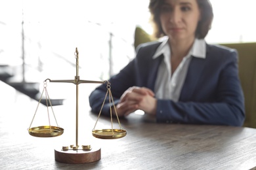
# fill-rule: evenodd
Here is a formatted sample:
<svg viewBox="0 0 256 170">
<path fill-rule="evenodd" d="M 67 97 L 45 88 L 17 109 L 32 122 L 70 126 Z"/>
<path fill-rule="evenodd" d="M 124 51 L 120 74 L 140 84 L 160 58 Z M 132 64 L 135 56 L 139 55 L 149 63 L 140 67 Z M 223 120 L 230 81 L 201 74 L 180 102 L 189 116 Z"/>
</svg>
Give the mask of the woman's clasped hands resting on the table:
<svg viewBox="0 0 256 170">
<path fill-rule="evenodd" d="M 157 100 L 149 88 L 133 86 L 127 89 L 116 105 L 118 116 L 127 116 L 140 109 L 146 114 L 156 114 Z"/>
</svg>

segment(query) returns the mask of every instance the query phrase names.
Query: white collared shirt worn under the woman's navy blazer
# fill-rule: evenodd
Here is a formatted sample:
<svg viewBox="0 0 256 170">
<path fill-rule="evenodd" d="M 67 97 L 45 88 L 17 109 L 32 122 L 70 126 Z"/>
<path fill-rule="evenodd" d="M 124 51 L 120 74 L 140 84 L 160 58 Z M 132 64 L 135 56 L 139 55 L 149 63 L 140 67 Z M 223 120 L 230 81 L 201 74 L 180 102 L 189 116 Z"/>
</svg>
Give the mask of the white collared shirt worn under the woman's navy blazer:
<svg viewBox="0 0 256 170">
<path fill-rule="evenodd" d="M 179 101 L 181 89 L 186 78 L 188 66 L 192 56 L 205 58 L 206 43 L 203 39 L 195 39 L 194 44 L 188 54 L 184 56 L 174 73 L 171 73 L 171 49 L 168 39 L 164 39 L 156 50 L 153 58 L 158 58 L 163 54 L 163 61 L 158 69 L 158 76 L 155 84 L 155 95 L 157 99 L 171 99 Z"/>
</svg>

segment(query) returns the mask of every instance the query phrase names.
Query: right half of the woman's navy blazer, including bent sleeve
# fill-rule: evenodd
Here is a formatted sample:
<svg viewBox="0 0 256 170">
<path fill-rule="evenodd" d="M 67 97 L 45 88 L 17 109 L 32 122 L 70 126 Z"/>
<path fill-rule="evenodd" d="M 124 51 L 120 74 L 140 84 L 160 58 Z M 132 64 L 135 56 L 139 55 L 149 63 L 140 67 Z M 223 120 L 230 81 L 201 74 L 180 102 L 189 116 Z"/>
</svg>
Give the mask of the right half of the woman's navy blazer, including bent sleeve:
<svg viewBox="0 0 256 170">
<path fill-rule="evenodd" d="M 156 119 L 158 122 L 242 126 L 244 94 L 238 77 L 236 50 L 211 46 L 205 60 L 193 58 L 179 101 L 158 99 Z"/>
</svg>

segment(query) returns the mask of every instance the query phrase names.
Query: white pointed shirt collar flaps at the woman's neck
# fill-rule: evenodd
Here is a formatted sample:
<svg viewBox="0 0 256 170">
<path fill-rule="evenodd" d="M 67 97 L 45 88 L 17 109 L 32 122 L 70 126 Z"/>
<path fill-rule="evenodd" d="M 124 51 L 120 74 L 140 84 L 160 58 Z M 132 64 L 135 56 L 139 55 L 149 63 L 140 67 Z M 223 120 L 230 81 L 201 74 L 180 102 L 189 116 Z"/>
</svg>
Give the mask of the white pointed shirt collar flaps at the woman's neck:
<svg viewBox="0 0 256 170">
<path fill-rule="evenodd" d="M 163 54 L 164 56 L 169 56 L 171 50 L 169 48 L 168 39 L 163 39 L 160 46 L 156 50 L 153 59 L 158 58 Z M 195 39 L 192 48 L 190 49 L 189 54 L 196 58 L 205 58 L 206 57 L 206 42 L 204 39 Z M 190 56 L 189 55 L 189 56 Z"/>
</svg>

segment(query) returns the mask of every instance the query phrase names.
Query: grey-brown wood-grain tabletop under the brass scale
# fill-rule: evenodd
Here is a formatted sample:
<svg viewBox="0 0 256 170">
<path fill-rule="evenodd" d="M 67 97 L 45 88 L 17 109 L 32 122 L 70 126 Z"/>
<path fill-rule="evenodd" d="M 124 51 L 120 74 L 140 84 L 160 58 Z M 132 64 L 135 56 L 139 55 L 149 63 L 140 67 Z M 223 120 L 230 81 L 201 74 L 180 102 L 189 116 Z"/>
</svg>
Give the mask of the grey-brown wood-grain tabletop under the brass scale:
<svg viewBox="0 0 256 170">
<path fill-rule="evenodd" d="M 91 135 L 98 115 L 89 111 L 87 97 L 79 104 L 79 145 L 100 146 L 101 160 L 68 164 L 54 160 L 54 148 L 75 144 L 75 103 L 54 106 L 59 137 L 29 135 L 43 124 L 47 107 L 0 81 L 0 169 L 252 169 L 256 167 L 256 129 L 249 127 L 156 124 L 145 115 L 120 119 L 127 135 L 121 139 L 96 139 Z M 3 95 L 3 93 L 5 95 Z M 51 95 L 50 95 L 51 96 Z M 72 103 L 72 104 L 70 104 Z M 51 114 L 51 113 L 50 113 Z M 47 117 L 48 118 L 48 117 Z M 46 118 L 46 120 L 47 120 Z M 39 119 L 39 120 L 37 120 Z M 48 121 L 48 120 L 47 120 Z M 55 123 L 51 119 L 52 125 Z M 111 126 L 100 116 L 96 128 Z M 114 127 L 118 127 L 114 120 Z"/>
</svg>

